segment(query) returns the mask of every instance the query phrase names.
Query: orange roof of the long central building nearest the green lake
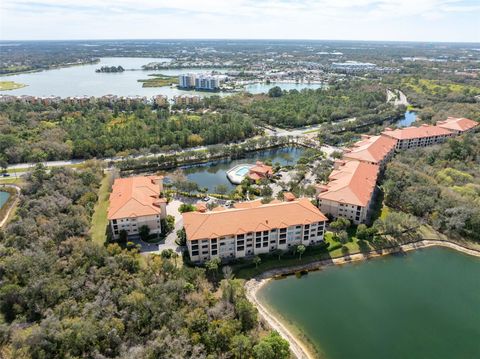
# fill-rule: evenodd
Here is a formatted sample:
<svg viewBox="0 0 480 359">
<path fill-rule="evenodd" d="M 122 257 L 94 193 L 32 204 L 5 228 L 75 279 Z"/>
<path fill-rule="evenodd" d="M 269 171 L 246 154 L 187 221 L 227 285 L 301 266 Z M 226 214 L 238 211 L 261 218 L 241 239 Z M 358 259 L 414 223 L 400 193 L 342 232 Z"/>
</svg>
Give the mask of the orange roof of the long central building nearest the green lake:
<svg viewBox="0 0 480 359">
<path fill-rule="evenodd" d="M 248 232 L 323 222 L 327 218 L 307 198 L 291 202 L 244 202 L 232 209 L 183 213 L 188 240 L 217 238 Z"/>
</svg>

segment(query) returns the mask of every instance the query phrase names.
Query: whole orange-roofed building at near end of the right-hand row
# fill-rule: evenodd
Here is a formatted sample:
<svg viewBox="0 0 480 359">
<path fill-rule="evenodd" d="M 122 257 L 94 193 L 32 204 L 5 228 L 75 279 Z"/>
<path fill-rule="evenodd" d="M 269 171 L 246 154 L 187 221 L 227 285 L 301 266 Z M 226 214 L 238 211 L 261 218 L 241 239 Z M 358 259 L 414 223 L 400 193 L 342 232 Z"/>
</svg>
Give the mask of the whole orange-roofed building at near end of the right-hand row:
<svg viewBox="0 0 480 359">
<path fill-rule="evenodd" d="M 332 217 L 355 224 L 368 222 L 379 166 L 357 160 L 337 160 L 326 185 L 319 187 L 318 206 Z"/>
</svg>

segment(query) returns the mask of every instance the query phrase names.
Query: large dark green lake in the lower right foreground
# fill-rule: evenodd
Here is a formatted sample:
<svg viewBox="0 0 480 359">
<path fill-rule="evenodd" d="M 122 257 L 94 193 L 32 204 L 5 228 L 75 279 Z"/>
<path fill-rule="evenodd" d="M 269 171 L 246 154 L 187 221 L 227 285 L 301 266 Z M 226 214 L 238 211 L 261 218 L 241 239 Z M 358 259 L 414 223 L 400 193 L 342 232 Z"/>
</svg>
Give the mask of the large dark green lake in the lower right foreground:
<svg viewBox="0 0 480 359">
<path fill-rule="evenodd" d="M 450 249 L 275 280 L 258 297 L 328 359 L 480 357 L 480 259 Z"/>
</svg>

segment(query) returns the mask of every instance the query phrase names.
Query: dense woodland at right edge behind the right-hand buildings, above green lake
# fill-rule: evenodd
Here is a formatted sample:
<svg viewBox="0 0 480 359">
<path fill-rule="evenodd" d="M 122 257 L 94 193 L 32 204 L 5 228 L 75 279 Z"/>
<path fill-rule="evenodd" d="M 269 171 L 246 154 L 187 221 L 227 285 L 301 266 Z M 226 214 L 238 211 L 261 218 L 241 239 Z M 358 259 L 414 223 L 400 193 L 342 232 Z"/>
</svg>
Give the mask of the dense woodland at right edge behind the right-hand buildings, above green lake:
<svg viewBox="0 0 480 359">
<path fill-rule="evenodd" d="M 435 229 L 480 240 L 480 134 L 398 154 L 387 166 L 385 203 Z"/>
</svg>

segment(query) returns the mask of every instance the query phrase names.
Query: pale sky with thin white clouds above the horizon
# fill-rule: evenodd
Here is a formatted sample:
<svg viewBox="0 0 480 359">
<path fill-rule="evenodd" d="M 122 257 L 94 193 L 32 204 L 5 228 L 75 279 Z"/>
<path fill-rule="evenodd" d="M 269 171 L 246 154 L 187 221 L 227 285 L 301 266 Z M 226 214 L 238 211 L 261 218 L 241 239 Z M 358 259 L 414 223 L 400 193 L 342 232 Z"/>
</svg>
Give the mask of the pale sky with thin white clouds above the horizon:
<svg viewBox="0 0 480 359">
<path fill-rule="evenodd" d="M 480 42 L 480 0 L 0 0 L 0 40 Z"/>
</svg>

